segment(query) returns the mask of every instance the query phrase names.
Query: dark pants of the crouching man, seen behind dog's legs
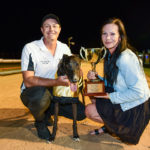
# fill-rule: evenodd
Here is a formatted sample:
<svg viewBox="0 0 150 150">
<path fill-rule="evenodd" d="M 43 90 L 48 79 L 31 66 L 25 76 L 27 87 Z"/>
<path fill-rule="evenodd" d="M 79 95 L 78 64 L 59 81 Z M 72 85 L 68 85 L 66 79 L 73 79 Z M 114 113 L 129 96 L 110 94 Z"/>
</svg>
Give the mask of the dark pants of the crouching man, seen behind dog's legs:
<svg viewBox="0 0 150 150">
<path fill-rule="evenodd" d="M 52 90 L 46 87 L 31 87 L 21 93 L 23 104 L 30 110 L 35 121 L 43 121 L 54 114 L 54 102 Z M 85 106 L 79 101 L 77 103 L 77 120 L 85 119 Z M 73 119 L 72 105 L 62 104 L 59 107 L 59 115 Z"/>
</svg>

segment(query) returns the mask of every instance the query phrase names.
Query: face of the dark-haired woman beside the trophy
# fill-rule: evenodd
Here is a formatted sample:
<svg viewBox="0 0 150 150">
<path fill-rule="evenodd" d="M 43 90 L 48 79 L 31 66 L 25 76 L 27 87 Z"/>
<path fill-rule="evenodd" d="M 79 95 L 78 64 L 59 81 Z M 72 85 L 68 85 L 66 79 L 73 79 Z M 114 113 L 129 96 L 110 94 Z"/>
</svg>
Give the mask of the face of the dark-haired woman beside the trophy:
<svg viewBox="0 0 150 150">
<path fill-rule="evenodd" d="M 118 26 L 116 24 L 106 24 L 102 28 L 102 42 L 112 54 L 121 41 Z"/>
</svg>

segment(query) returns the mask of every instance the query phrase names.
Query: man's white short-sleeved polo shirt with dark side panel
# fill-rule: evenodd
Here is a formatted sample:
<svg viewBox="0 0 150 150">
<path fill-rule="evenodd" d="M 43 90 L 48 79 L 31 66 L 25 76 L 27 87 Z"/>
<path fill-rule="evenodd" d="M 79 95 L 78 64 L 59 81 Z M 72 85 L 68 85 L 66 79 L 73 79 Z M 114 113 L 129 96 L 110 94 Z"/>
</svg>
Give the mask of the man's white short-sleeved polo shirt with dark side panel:
<svg viewBox="0 0 150 150">
<path fill-rule="evenodd" d="M 54 79 L 57 66 L 63 54 L 71 55 L 69 47 L 57 41 L 55 55 L 46 48 L 43 38 L 24 46 L 21 56 L 21 70 L 34 71 L 35 76 Z M 24 84 L 21 89 L 25 88 Z"/>
</svg>

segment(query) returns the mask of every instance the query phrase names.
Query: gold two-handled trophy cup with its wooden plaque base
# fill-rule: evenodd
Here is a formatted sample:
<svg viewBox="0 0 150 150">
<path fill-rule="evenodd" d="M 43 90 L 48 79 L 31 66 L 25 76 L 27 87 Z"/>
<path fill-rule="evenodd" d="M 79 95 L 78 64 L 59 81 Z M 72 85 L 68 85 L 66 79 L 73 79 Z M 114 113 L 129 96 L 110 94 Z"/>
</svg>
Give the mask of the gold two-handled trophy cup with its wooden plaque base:
<svg viewBox="0 0 150 150">
<path fill-rule="evenodd" d="M 96 71 L 96 64 L 106 55 L 105 47 L 102 48 L 84 48 L 80 49 L 80 56 L 84 61 L 90 62 L 92 71 Z M 84 96 L 105 95 L 104 82 L 100 79 L 85 80 Z"/>
</svg>

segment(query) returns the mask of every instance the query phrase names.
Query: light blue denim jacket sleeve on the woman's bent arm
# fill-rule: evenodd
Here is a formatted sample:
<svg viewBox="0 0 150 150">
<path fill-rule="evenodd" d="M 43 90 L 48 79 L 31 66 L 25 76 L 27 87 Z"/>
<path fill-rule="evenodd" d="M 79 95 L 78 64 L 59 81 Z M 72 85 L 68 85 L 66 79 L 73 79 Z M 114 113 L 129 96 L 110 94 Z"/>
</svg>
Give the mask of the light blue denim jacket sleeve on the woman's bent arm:
<svg viewBox="0 0 150 150">
<path fill-rule="evenodd" d="M 114 104 L 121 104 L 139 100 L 144 96 L 143 74 L 138 58 L 135 54 L 122 55 L 117 64 L 119 72 L 125 81 L 125 87 L 110 93 L 110 100 Z M 119 81 L 117 81 L 119 82 Z M 117 83 L 116 83 L 117 84 Z"/>
</svg>

